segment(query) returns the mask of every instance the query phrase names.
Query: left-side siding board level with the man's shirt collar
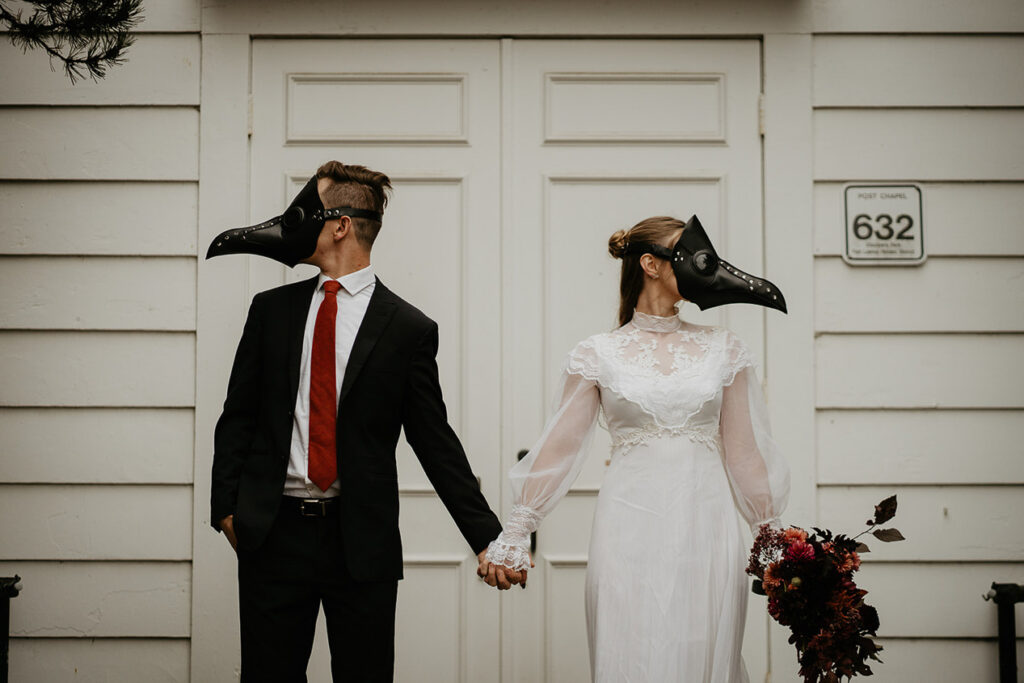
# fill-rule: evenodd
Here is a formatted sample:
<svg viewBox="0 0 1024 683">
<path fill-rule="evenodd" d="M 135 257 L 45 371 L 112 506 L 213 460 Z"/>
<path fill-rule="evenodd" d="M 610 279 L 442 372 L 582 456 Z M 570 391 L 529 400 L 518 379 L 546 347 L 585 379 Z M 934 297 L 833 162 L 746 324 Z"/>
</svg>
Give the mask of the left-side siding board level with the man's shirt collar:
<svg viewBox="0 0 1024 683">
<path fill-rule="evenodd" d="M 196 329 L 190 256 L 0 256 L 0 292 L 8 329 Z"/>
</svg>

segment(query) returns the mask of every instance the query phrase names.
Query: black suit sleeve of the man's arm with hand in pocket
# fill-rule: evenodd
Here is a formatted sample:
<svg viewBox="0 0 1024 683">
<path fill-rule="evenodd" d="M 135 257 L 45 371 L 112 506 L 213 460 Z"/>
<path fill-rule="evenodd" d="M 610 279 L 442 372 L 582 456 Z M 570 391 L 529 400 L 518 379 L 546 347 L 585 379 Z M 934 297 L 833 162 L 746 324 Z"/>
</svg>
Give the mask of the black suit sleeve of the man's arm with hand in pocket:
<svg viewBox="0 0 1024 683">
<path fill-rule="evenodd" d="M 210 487 L 210 523 L 234 513 L 242 466 L 250 452 L 259 414 L 261 298 L 249 306 L 242 339 L 234 352 L 227 397 L 213 434 L 213 476 Z"/>
</svg>

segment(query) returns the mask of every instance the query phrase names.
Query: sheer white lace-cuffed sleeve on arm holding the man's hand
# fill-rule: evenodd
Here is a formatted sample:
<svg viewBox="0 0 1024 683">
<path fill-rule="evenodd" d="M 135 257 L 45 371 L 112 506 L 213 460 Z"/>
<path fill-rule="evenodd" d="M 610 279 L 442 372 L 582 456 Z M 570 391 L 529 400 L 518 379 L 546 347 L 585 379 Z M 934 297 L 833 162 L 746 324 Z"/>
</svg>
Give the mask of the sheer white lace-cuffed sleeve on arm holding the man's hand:
<svg viewBox="0 0 1024 683">
<path fill-rule="evenodd" d="M 512 514 L 487 547 L 487 561 L 511 569 L 529 568 L 529 535 L 580 475 L 601 405 L 594 349 L 586 342 L 569 353 L 562 373 L 558 409 L 544 433 L 509 471 Z"/>
</svg>

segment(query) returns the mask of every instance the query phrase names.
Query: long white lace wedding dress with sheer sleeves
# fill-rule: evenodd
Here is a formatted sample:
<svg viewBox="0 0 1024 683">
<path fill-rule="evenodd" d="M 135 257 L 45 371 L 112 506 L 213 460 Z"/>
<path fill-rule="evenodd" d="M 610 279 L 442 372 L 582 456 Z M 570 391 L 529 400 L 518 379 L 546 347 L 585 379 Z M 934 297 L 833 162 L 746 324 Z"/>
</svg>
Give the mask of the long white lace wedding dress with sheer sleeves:
<svg viewBox="0 0 1024 683">
<path fill-rule="evenodd" d="M 775 520 L 788 470 L 743 343 L 635 313 L 568 355 L 559 408 L 511 471 L 512 517 L 488 558 L 527 565 L 529 533 L 575 480 L 603 412 L 612 436 L 590 540 L 587 631 L 600 683 L 745 683 L 752 528 Z"/>
</svg>

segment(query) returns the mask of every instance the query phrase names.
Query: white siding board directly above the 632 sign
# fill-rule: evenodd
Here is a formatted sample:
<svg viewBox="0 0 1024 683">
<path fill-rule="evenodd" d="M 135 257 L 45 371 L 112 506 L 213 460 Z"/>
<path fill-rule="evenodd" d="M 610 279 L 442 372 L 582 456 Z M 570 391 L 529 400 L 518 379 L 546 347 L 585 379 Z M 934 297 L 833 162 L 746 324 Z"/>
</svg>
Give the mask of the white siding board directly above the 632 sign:
<svg viewBox="0 0 1024 683">
<path fill-rule="evenodd" d="M 817 180 L 1024 179 L 1024 110 L 817 110 Z"/>
</svg>

